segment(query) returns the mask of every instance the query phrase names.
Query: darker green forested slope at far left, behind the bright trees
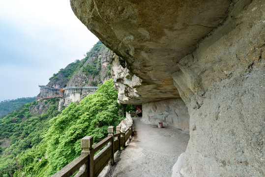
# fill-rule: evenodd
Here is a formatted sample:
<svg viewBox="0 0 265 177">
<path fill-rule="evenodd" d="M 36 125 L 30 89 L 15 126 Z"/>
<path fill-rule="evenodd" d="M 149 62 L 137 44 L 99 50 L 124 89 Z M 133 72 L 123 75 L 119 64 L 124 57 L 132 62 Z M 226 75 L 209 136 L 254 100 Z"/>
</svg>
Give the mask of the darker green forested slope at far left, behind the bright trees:
<svg viewBox="0 0 265 177">
<path fill-rule="evenodd" d="M 0 119 L 0 177 L 12 177 L 20 168 L 18 160 L 30 148 L 34 148 L 42 141 L 41 134 L 49 128 L 49 119 L 59 114 L 55 100 L 49 101 L 47 111 L 40 115 L 32 115 L 29 110 L 34 109 L 41 102 L 26 104 L 21 110 L 13 111 Z"/>
</svg>

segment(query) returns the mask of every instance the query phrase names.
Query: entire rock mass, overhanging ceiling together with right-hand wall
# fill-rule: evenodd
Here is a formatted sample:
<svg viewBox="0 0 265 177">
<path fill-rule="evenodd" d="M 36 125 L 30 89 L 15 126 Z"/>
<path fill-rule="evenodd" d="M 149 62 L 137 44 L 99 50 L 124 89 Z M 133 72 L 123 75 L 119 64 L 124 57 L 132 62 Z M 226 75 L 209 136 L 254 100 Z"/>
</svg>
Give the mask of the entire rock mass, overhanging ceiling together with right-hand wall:
<svg viewBox="0 0 265 177">
<path fill-rule="evenodd" d="M 177 99 L 184 101 L 189 116 L 175 125 L 189 121 L 182 176 L 265 176 L 264 1 L 70 2 L 117 55 L 120 103 L 142 104 L 145 120 L 174 124 Z"/>
</svg>

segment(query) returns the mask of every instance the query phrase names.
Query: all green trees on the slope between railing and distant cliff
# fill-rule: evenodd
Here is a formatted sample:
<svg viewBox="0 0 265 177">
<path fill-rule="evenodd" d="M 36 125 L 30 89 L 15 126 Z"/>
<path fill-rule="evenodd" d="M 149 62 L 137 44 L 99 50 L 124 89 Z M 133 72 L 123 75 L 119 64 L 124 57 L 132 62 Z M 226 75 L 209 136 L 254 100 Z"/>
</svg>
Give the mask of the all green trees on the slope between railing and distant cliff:
<svg viewBox="0 0 265 177">
<path fill-rule="evenodd" d="M 0 177 L 50 177 L 80 155 L 81 139 L 93 135 L 94 142 L 107 136 L 108 126 L 123 118 L 122 105 L 113 80 L 100 86 L 79 104 L 72 102 L 60 114 L 56 99 L 48 109 L 32 115 L 34 101 L 19 112 L 0 119 Z M 129 111 L 129 110 L 127 110 Z"/>
</svg>

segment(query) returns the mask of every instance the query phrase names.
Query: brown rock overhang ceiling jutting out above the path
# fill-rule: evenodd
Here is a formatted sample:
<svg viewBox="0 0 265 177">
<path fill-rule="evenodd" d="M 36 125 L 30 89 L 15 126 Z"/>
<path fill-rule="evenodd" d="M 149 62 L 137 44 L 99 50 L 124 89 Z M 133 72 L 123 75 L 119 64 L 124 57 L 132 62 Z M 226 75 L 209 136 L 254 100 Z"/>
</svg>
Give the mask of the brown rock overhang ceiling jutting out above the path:
<svg viewBox="0 0 265 177">
<path fill-rule="evenodd" d="M 125 61 L 126 69 L 114 77 L 119 101 L 132 104 L 179 98 L 172 79 L 177 62 L 226 19 L 231 5 L 231 0 L 70 2 L 82 23 L 119 56 L 113 65 Z M 135 76 L 138 84 L 132 84 Z"/>
</svg>

